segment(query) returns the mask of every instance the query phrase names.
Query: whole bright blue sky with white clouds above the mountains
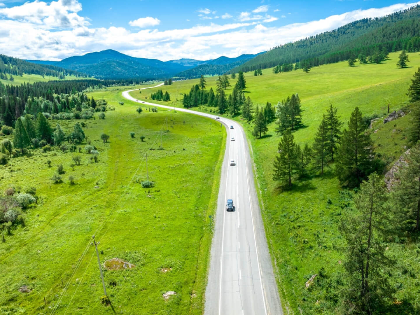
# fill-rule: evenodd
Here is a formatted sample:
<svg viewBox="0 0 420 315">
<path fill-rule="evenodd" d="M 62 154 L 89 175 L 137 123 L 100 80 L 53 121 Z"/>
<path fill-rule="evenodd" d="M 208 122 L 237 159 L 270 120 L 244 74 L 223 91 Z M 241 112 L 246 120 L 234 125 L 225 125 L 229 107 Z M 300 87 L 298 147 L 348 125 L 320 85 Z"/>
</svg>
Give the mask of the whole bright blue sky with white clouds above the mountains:
<svg viewBox="0 0 420 315">
<path fill-rule="evenodd" d="M 34 60 L 106 49 L 163 61 L 237 57 L 416 4 L 420 1 L 0 0 L 0 53 Z"/>
</svg>

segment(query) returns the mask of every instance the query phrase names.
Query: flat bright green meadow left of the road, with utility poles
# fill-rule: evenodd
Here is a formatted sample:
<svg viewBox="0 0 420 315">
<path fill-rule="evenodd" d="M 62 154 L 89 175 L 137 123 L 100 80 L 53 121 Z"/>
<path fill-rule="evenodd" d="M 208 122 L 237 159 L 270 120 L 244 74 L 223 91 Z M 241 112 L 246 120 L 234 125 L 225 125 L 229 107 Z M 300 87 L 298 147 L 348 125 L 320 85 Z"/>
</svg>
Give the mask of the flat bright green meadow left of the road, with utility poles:
<svg viewBox="0 0 420 315">
<path fill-rule="evenodd" d="M 66 284 L 95 233 L 102 262 L 139 253 L 134 270 L 105 272 L 108 295 L 118 313 L 201 314 L 212 236 L 209 215 L 217 199 L 224 128 L 184 113 L 173 113 L 173 121 L 167 111 L 138 114 L 136 104 L 124 100 L 115 88 L 91 96 L 106 98 L 116 107 L 106 112 L 105 120 L 87 121 L 84 128 L 100 151 L 99 163 L 90 163 L 89 155 L 82 153 L 82 165 L 72 171 L 72 153 L 53 156 L 38 151 L 34 157 L 11 160 L 1 170 L 3 190 L 36 186 L 43 204 L 28 211 L 26 227 L 0 243 L 0 312 L 49 314 L 47 307 L 53 307 L 62 292 L 61 278 Z M 118 105 L 122 100 L 125 105 Z M 169 131 L 161 133 L 166 118 Z M 60 121 L 67 131 L 74 123 Z M 102 143 L 102 132 L 110 135 L 110 143 Z M 161 141 L 165 150 L 149 150 L 158 149 Z M 146 152 L 149 176 L 156 182 L 152 189 L 131 180 L 146 178 Z M 47 167 L 48 159 L 52 168 Z M 60 163 L 66 171 L 64 183 L 51 184 L 49 178 Z M 68 184 L 69 175 L 76 178 L 76 185 Z M 102 285 L 93 255 L 94 247 L 89 247 L 57 313 L 67 307 L 67 314 L 113 313 L 99 302 Z M 161 268 L 172 270 L 161 273 Z M 117 285 L 110 286 L 111 280 Z M 17 291 L 24 284 L 32 293 Z M 162 294 L 169 290 L 178 294 L 165 302 Z"/>
</svg>

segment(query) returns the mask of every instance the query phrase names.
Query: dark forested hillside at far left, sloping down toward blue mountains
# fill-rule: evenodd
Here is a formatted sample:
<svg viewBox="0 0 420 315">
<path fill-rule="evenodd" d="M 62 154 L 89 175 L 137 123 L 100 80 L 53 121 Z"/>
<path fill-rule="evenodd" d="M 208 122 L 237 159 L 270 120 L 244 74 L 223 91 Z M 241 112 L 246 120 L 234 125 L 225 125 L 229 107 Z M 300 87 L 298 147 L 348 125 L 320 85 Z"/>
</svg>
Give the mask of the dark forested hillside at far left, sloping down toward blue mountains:
<svg viewBox="0 0 420 315">
<path fill-rule="evenodd" d="M 68 75 L 83 78 L 87 77 L 87 74 L 78 71 L 68 70 L 57 66 L 30 63 L 19 58 L 0 55 L 0 79 L 9 79 L 13 81 L 13 76 L 22 76 L 23 74 L 55 76 L 58 79 L 65 79 Z"/>
</svg>

